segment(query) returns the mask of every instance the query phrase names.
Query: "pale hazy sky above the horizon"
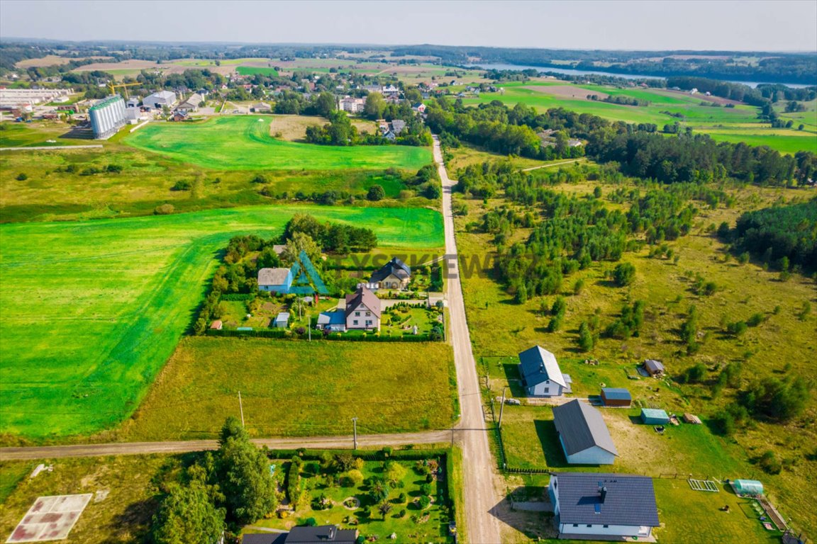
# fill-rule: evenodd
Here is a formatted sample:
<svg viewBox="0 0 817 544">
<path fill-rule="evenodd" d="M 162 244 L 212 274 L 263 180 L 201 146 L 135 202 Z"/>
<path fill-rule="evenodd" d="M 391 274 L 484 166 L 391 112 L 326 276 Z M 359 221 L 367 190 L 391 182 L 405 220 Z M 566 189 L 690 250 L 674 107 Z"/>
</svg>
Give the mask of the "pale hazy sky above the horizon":
<svg viewBox="0 0 817 544">
<path fill-rule="evenodd" d="M 817 0 L 0 0 L 0 40 L 817 51 Z"/>
</svg>

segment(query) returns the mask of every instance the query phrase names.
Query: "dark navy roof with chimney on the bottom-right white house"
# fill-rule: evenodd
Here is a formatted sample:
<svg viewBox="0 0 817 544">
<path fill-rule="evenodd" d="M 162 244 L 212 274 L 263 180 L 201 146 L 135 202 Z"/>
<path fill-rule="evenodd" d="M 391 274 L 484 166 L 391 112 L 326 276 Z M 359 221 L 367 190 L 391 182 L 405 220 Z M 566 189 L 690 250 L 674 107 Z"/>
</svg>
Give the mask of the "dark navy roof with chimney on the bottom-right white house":
<svg viewBox="0 0 817 544">
<path fill-rule="evenodd" d="M 560 523 L 659 526 L 653 480 L 646 476 L 557 472 L 551 485 L 559 494 Z"/>
</svg>

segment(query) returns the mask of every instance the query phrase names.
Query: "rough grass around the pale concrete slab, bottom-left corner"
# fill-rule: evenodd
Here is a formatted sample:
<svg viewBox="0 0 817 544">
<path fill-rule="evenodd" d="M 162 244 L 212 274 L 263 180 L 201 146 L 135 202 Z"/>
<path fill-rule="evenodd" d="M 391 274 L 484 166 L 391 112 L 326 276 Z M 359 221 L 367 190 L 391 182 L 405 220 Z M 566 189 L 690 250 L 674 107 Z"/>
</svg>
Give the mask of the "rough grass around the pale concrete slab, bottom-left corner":
<svg viewBox="0 0 817 544">
<path fill-rule="evenodd" d="M 48 495 L 108 492 L 95 498 L 83 511 L 69 540 L 76 544 L 132 544 L 146 542 L 150 520 L 156 511 L 158 485 L 164 475 L 176 471 L 181 456 L 143 455 L 107 458 L 41 459 L 26 462 L 52 464 L 35 479 L 26 478 L 11 491 L 0 507 L 0 535 L 11 534 L 36 498 Z M 0 465 L 0 474 L 8 463 Z M 95 495 L 96 497 L 96 495 Z"/>
</svg>

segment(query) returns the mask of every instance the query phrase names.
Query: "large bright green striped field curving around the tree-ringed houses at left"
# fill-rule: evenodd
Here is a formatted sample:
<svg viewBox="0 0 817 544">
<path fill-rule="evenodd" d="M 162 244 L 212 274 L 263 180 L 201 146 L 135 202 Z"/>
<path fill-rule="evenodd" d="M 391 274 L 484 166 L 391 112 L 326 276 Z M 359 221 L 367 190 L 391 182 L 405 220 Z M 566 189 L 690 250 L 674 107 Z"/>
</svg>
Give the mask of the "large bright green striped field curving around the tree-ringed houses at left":
<svg viewBox="0 0 817 544">
<path fill-rule="evenodd" d="M 0 432 L 88 434 L 131 414 L 190 324 L 217 251 L 297 212 L 366 226 L 383 248 L 443 245 L 427 209 L 255 206 L 0 226 Z M 13 288 L 6 288 L 12 285 Z"/>
</svg>

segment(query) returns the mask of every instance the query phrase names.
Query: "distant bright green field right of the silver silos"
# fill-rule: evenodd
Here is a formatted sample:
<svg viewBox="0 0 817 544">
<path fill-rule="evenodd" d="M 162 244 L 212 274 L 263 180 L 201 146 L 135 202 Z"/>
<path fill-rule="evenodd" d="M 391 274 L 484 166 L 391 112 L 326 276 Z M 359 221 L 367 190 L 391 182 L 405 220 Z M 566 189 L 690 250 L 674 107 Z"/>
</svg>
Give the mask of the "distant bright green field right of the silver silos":
<svg viewBox="0 0 817 544">
<path fill-rule="evenodd" d="M 270 136 L 269 117 L 218 117 L 202 123 L 150 123 L 123 142 L 208 168 L 235 170 L 419 170 L 430 148 L 401 145 L 333 147 L 297 144 Z"/>
</svg>

